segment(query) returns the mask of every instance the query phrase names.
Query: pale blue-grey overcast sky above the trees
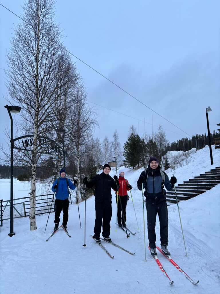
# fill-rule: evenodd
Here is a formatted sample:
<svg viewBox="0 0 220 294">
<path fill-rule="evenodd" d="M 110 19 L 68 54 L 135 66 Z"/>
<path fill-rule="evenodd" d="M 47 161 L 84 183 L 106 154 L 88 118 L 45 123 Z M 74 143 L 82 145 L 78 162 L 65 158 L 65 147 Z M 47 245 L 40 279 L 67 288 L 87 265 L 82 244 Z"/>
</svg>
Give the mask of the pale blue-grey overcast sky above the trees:
<svg viewBox="0 0 220 294">
<path fill-rule="evenodd" d="M 23 1 L 0 3 L 21 16 Z M 66 36 L 63 44 L 72 54 L 182 129 L 72 56 L 89 104 L 96 108 L 100 129 L 95 136 L 101 141 L 105 136 L 111 141 L 117 129 L 123 147 L 129 127 L 133 124 L 140 136 L 151 133 L 152 118 L 153 131 L 162 125 L 170 142 L 207 133 L 208 106 L 210 131 L 219 128 L 219 0 L 58 0 L 56 8 Z M 0 16 L 0 142 L 4 143 L 3 129 L 10 127 L 10 118 L 2 98 L 7 93 L 2 69 L 13 26 L 21 20 L 2 6 Z"/>
</svg>

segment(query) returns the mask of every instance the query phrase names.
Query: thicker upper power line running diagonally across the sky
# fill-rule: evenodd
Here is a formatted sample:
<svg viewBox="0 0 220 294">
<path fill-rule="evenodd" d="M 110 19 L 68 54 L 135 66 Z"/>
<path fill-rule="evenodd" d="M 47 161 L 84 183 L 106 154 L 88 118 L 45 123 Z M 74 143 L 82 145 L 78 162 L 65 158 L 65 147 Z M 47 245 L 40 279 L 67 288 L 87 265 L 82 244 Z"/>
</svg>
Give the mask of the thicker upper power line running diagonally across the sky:
<svg viewBox="0 0 220 294">
<path fill-rule="evenodd" d="M 21 20 L 23 20 L 24 22 L 27 23 L 27 21 L 25 21 L 24 19 L 22 19 L 20 16 L 18 16 L 17 14 L 15 14 L 13 11 L 11 11 L 10 9 L 8 9 L 7 7 L 5 7 L 4 5 L 2 5 L 0 3 L 1 6 L 3 6 L 5 9 L 7 9 L 8 11 L 10 11 L 11 13 L 13 13 L 14 15 L 16 15 L 17 17 L 19 17 Z M 54 41 L 55 42 L 55 41 Z M 56 44 L 58 44 L 57 42 L 55 42 Z M 109 81 L 110 83 L 112 83 L 113 85 L 115 85 L 116 87 L 118 87 L 119 89 L 121 89 L 123 92 L 125 92 L 126 94 L 128 94 L 129 96 L 131 96 L 132 98 L 134 98 L 136 101 L 138 101 L 139 103 L 143 104 L 145 107 L 147 107 L 148 109 L 150 109 L 151 111 L 153 111 L 154 113 L 156 113 L 157 115 L 159 115 L 160 117 L 162 117 L 163 119 L 165 119 L 166 121 L 168 121 L 169 123 L 171 123 L 173 126 L 175 126 L 176 128 L 178 128 L 180 131 L 184 132 L 185 134 L 187 134 L 188 136 L 192 137 L 191 135 L 189 135 L 188 133 L 186 133 L 185 131 L 183 131 L 181 128 L 179 128 L 178 126 L 176 126 L 174 123 L 172 123 L 171 121 L 169 121 L 168 119 L 166 119 L 165 117 L 163 117 L 162 115 L 160 115 L 159 113 L 157 113 L 156 111 L 154 111 L 152 108 L 150 108 L 149 106 L 147 106 L 145 103 L 143 103 L 142 101 L 140 101 L 139 99 L 135 98 L 133 95 L 131 95 L 130 93 L 128 93 L 126 90 L 124 90 L 123 88 L 121 88 L 120 86 L 118 86 L 116 83 L 114 83 L 113 81 L 111 81 L 109 78 L 107 78 L 106 76 L 104 76 L 103 74 L 101 74 L 99 71 L 97 71 L 96 69 L 94 69 L 92 66 L 90 66 L 89 64 L 87 64 L 86 62 L 84 62 L 82 59 L 78 58 L 77 56 L 75 56 L 74 54 L 72 54 L 70 51 L 68 51 L 65 47 L 63 47 L 61 44 L 60 45 L 63 49 L 65 49 L 69 54 L 71 54 L 72 56 L 74 56 L 76 59 L 78 59 L 79 61 L 81 61 L 82 63 L 84 63 L 86 66 L 88 66 L 90 69 L 94 70 L 97 74 L 99 74 L 100 76 L 102 76 L 103 78 L 105 78 L 107 81 Z"/>
</svg>

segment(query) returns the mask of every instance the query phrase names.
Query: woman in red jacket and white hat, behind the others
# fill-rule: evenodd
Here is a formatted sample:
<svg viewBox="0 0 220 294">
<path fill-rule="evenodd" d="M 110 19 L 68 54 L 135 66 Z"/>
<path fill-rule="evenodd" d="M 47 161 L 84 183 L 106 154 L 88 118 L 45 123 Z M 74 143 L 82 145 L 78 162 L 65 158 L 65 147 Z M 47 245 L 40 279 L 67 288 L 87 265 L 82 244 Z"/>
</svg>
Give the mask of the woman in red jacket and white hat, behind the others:
<svg viewBox="0 0 220 294">
<path fill-rule="evenodd" d="M 124 174 L 125 173 L 123 170 L 119 171 L 119 191 L 118 197 L 116 196 L 116 203 L 118 206 L 117 218 L 119 227 L 126 226 L 126 206 L 129 200 L 128 191 L 132 189 L 132 186 L 128 183 L 128 180 L 125 179 Z"/>
</svg>

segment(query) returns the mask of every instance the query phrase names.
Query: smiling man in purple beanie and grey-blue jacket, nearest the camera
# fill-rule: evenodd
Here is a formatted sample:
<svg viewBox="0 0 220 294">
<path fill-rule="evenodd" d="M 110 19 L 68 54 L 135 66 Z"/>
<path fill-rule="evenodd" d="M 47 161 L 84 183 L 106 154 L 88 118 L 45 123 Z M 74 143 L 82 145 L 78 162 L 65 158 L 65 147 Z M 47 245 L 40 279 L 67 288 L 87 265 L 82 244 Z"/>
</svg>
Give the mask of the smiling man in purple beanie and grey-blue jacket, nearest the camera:
<svg viewBox="0 0 220 294">
<path fill-rule="evenodd" d="M 138 189 L 142 190 L 142 183 L 144 196 L 146 197 L 147 221 L 148 221 L 148 239 L 150 253 L 152 256 L 157 255 L 156 251 L 156 216 L 158 214 L 160 220 L 160 245 L 165 255 L 170 255 L 167 250 L 168 244 L 168 211 L 167 202 L 165 198 L 165 186 L 167 190 L 171 190 L 177 179 L 173 176 L 168 178 L 164 171 L 160 171 L 156 157 L 150 157 L 148 168 L 143 171 L 138 179 Z"/>
</svg>

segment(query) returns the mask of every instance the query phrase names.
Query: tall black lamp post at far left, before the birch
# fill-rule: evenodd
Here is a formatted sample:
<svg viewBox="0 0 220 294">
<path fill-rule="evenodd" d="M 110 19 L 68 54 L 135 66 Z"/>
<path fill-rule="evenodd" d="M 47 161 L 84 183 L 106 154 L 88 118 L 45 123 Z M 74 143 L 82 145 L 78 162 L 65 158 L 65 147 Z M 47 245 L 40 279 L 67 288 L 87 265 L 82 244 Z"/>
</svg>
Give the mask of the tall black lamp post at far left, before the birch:
<svg viewBox="0 0 220 294">
<path fill-rule="evenodd" d="M 5 105 L 5 108 L 7 108 L 7 111 L 9 113 L 10 119 L 11 119 L 11 192 L 10 192 L 10 233 L 8 234 L 10 237 L 15 235 L 13 232 L 14 230 L 14 218 L 13 218 L 13 148 L 14 148 L 14 142 L 13 142 L 13 119 L 11 116 L 11 113 L 19 113 L 21 111 L 20 106 L 8 106 Z"/>
</svg>

